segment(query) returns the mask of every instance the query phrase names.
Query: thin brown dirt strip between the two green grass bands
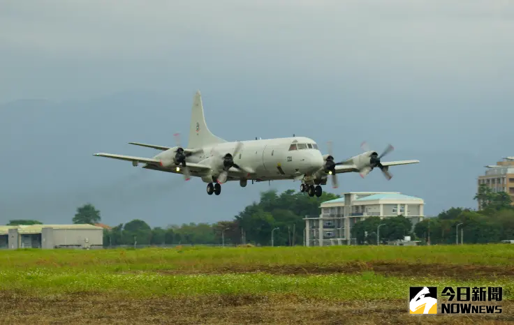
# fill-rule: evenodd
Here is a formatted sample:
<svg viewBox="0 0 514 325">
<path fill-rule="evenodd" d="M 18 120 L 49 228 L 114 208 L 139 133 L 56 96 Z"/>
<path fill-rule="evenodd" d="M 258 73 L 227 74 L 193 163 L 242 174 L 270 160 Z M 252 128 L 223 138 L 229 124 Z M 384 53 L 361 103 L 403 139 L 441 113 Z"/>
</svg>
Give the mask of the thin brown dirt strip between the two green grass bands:
<svg viewBox="0 0 514 325">
<path fill-rule="evenodd" d="M 278 275 L 309 275 L 346 273 L 355 274 L 365 271 L 390 276 L 427 276 L 446 277 L 467 280 L 473 278 L 495 278 L 514 276 L 514 266 L 487 266 L 487 265 L 451 265 L 451 264 L 406 264 L 395 262 L 351 262 L 347 264 L 332 264 L 320 266 L 319 264 L 302 265 L 240 265 L 222 266 L 203 270 L 160 270 L 164 274 L 213 274 L 213 273 L 253 273 L 263 272 Z"/>
</svg>

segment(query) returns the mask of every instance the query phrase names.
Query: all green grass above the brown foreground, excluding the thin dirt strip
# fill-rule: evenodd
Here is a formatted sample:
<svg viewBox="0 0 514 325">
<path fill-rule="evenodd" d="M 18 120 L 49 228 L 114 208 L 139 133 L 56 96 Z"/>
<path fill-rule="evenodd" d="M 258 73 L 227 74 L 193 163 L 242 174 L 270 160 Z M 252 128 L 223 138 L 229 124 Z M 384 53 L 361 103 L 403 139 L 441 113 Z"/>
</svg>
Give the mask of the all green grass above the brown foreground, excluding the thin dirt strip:
<svg viewBox="0 0 514 325">
<path fill-rule="evenodd" d="M 514 278 L 385 276 L 358 274 L 271 275 L 258 266 L 330 266 L 351 262 L 514 266 L 514 245 L 332 246 L 324 248 L 147 248 L 140 250 L 2 250 L 0 290 L 28 295 L 101 292 L 122 296 L 295 294 L 336 300 L 405 298 L 410 286 L 504 287 L 512 299 Z M 237 266 L 237 267 L 236 267 Z M 439 267 L 439 266 L 438 266 Z M 163 270 L 230 271 L 166 274 Z M 256 273 L 247 273 L 254 271 Z M 416 273 L 417 274 L 417 273 Z M 446 274 L 446 273 L 441 273 Z M 386 272 L 387 275 L 387 272 Z"/>
</svg>

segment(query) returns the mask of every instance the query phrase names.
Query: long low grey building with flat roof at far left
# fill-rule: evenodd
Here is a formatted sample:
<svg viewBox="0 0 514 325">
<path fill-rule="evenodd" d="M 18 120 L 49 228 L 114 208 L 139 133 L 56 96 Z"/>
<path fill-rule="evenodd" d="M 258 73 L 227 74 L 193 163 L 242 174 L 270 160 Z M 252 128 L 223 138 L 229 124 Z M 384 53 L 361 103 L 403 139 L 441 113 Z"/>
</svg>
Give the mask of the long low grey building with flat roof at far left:
<svg viewBox="0 0 514 325">
<path fill-rule="evenodd" d="M 0 248 L 101 248 L 103 228 L 94 225 L 0 226 Z"/>
</svg>

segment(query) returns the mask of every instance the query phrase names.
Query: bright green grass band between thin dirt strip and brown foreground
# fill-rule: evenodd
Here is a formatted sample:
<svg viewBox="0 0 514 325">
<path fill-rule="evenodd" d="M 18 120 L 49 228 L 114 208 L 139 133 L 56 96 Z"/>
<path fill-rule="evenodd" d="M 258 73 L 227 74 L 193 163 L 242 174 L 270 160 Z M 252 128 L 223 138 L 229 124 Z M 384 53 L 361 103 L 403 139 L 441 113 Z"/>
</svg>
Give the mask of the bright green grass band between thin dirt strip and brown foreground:
<svg viewBox="0 0 514 325">
<path fill-rule="evenodd" d="M 342 300 L 406 298 L 409 286 L 503 287 L 504 299 L 512 299 L 513 280 L 455 281 L 448 279 L 360 275 L 160 275 L 156 273 L 54 273 L 0 271 L 0 289 L 33 295 L 98 292 L 123 296 L 195 296 L 212 294 L 295 294 L 306 298 Z"/>
</svg>

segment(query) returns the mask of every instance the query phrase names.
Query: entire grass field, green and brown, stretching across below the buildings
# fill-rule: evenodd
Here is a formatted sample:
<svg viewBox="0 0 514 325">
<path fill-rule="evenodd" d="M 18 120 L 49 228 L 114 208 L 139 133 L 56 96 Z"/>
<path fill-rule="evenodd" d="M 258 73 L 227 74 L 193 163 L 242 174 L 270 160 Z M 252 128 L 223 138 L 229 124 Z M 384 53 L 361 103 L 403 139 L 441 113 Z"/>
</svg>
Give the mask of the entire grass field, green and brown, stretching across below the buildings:
<svg viewBox="0 0 514 325">
<path fill-rule="evenodd" d="M 3 250 L 0 324 L 502 324 L 513 275 L 514 245 Z M 503 287 L 504 312 L 410 316 L 410 286 Z"/>
</svg>

